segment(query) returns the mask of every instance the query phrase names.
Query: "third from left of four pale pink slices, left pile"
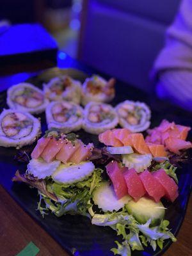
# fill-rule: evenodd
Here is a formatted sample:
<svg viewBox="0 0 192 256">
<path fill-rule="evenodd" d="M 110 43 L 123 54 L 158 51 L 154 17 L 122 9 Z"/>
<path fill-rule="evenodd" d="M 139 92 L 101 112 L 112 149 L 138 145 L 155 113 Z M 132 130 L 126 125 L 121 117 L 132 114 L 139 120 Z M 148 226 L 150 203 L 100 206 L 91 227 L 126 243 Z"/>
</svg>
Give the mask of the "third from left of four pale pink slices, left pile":
<svg viewBox="0 0 192 256">
<path fill-rule="evenodd" d="M 69 140 L 63 141 L 63 147 L 61 147 L 58 154 L 56 154 L 56 159 L 66 164 L 79 147 L 79 140 L 77 140 L 74 145 Z"/>
</svg>

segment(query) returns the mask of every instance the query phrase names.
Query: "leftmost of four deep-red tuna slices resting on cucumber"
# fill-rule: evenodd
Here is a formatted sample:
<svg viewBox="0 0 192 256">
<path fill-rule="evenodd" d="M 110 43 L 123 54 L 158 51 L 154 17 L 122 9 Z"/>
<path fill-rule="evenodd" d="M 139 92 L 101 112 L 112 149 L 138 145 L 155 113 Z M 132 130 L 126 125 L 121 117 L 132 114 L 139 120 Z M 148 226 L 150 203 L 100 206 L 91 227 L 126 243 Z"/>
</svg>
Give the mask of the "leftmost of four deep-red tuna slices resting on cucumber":
<svg viewBox="0 0 192 256">
<path fill-rule="evenodd" d="M 116 161 L 111 161 L 106 165 L 107 173 L 113 182 L 114 191 L 118 199 L 127 195 L 127 185 L 123 175 L 125 169 L 126 168 L 120 168 Z"/>
</svg>

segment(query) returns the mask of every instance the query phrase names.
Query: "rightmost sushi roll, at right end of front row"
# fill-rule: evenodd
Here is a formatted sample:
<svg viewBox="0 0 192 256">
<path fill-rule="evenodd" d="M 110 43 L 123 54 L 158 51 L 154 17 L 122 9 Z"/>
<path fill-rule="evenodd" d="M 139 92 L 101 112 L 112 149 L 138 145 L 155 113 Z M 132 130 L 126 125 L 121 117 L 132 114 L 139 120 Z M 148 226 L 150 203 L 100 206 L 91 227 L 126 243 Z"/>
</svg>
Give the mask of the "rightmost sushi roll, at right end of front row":
<svg viewBox="0 0 192 256">
<path fill-rule="evenodd" d="M 131 132 L 142 132 L 150 126 L 150 109 L 139 101 L 125 100 L 116 106 L 119 124 Z"/>
</svg>

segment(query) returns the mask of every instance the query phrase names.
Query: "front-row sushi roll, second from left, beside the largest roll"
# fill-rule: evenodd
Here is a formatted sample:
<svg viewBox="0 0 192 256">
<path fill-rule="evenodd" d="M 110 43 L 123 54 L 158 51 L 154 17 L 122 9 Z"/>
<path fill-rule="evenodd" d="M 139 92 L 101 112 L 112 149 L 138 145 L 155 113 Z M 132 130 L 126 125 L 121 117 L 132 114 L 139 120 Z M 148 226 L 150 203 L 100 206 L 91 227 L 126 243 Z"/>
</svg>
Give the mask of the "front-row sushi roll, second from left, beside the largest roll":
<svg viewBox="0 0 192 256">
<path fill-rule="evenodd" d="M 83 109 L 74 102 L 52 101 L 46 108 L 48 129 L 63 133 L 78 131 L 83 122 Z"/>
</svg>

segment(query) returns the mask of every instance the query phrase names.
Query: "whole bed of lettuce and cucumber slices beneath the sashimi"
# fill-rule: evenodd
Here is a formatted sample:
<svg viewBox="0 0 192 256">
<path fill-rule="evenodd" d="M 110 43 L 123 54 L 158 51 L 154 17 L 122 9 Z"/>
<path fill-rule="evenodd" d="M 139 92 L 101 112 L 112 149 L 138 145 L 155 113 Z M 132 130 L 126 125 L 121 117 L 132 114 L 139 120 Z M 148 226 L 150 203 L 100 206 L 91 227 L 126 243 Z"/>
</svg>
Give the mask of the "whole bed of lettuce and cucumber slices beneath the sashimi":
<svg viewBox="0 0 192 256">
<path fill-rule="evenodd" d="M 48 131 L 44 138 L 49 138 L 49 136 L 56 138 L 56 135 L 56 132 Z M 77 140 L 75 137 L 74 134 L 68 134 L 66 138 L 74 143 Z M 132 153 L 130 147 L 119 147 L 117 154 L 115 147 L 108 149 L 108 161 L 113 159 L 113 156 L 116 159 L 121 150 L 126 153 L 122 159 L 125 156 L 130 156 L 128 157 L 130 161 L 131 154 L 135 154 Z M 116 197 L 113 185 L 106 181 L 104 170 L 95 167 L 94 163 L 98 163 L 97 158 L 102 160 L 101 151 L 99 154 L 98 151 L 92 150 L 92 157 L 90 157 L 93 159 L 92 161 L 88 159 L 79 164 L 59 163 L 56 168 L 52 168 L 52 164 L 56 160 L 45 163 L 40 157 L 31 159 L 26 173 L 20 174 L 17 171 L 13 181 L 25 182 L 38 189 L 40 198 L 38 210 L 44 218 L 50 211 L 57 217 L 64 214 L 81 214 L 90 218 L 93 225 L 108 226 L 116 230 L 116 234 L 122 238 L 122 242 L 115 241 L 116 247 L 111 248 L 115 255 L 129 256 L 131 251 L 144 250 L 145 246 L 152 246 L 155 251 L 157 246 L 163 248 L 166 239 L 176 241 L 175 236 L 168 228 L 169 221 L 164 220 L 166 208 L 161 201 L 154 202 L 152 198 L 141 197 L 135 202 L 129 195 L 122 198 Z M 128 151 L 129 155 L 127 155 Z M 94 152 L 97 153 L 96 157 L 93 156 Z M 146 165 L 145 158 L 147 156 L 140 156 L 141 158 L 136 157 L 138 158 L 137 163 L 139 162 L 141 167 L 140 161 L 142 162 L 144 159 L 143 164 Z M 134 164 L 135 156 L 133 159 L 132 163 Z M 124 168 L 124 163 L 121 163 L 121 166 Z M 175 174 L 177 167 L 168 160 L 157 163 L 150 158 L 150 172 L 156 172 L 159 169 L 163 169 L 178 183 Z M 142 172 L 142 168 L 139 168 L 138 173 L 140 172 Z"/>
</svg>

